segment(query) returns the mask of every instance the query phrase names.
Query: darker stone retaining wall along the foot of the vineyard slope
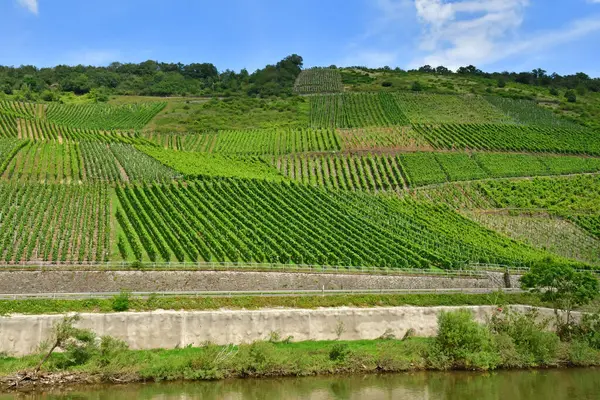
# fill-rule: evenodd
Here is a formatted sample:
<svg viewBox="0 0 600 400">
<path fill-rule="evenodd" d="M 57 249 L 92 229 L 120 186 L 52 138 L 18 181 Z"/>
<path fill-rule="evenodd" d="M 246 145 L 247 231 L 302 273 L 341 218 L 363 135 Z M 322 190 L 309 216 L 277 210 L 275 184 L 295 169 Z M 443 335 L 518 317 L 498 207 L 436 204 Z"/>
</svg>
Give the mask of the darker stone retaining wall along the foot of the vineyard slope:
<svg viewBox="0 0 600 400">
<path fill-rule="evenodd" d="M 513 276 L 513 287 L 518 277 Z M 325 289 L 444 289 L 504 287 L 487 277 L 317 274 L 229 271 L 0 271 L 0 293 L 249 291 Z"/>
</svg>

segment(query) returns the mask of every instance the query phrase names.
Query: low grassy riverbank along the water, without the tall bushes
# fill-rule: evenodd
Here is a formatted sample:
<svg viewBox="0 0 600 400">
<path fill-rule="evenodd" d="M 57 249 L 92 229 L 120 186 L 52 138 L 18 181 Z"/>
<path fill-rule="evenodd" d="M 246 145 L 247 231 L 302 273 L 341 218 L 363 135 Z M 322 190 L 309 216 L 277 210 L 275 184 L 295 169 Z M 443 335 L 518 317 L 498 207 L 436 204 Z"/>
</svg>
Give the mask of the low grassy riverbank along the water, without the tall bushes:
<svg viewBox="0 0 600 400">
<path fill-rule="evenodd" d="M 0 390 L 35 390 L 81 384 L 125 384 L 154 381 L 198 381 L 228 378 L 305 377 L 409 371 L 566 368 L 600 366 L 600 352 L 580 344 L 561 343 L 547 358 L 497 349 L 493 368 L 447 359 L 435 338 L 320 342 L 256 342 L 242 346 L 189 347 L 172 350 L 123 350 L 80 366 L 60 368 L 54 354 L 40 374 L 26 374 L 41 356 L 0 358 Z M 19 373 L 19 371 L 21 371 Z"/>
</svg>

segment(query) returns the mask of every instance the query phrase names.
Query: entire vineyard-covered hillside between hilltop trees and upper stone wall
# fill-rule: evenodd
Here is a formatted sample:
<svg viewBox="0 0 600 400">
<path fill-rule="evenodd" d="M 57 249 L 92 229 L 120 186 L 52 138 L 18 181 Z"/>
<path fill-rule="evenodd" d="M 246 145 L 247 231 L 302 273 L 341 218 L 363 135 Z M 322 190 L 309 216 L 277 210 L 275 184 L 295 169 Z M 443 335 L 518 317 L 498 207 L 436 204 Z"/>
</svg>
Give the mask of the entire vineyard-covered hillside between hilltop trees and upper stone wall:
<svg viewBox="0 0 600 400">
<path fill-rule="evenodd" d="M 499 86 L 313 69 L 284 97 L 9 96 L 0 263 L 600 268 L 597 93 Z"/>
</svg>

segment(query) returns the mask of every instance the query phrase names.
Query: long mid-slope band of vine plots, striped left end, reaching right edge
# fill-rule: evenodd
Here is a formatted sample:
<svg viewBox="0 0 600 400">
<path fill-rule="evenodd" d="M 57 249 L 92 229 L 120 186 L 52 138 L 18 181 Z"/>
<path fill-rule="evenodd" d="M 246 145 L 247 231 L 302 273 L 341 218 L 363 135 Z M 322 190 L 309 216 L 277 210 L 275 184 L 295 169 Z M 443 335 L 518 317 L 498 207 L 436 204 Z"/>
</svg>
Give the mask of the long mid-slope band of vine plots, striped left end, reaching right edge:
<svg viewBox="0 0 600 400">
<path fill-rule="evenodd" d="M 600 158 L 502 153 L 294 155 L 273 158 L 282 175 L 331 189 L 398 191 L 489 178 L 600 172 Z"/>
</svg>

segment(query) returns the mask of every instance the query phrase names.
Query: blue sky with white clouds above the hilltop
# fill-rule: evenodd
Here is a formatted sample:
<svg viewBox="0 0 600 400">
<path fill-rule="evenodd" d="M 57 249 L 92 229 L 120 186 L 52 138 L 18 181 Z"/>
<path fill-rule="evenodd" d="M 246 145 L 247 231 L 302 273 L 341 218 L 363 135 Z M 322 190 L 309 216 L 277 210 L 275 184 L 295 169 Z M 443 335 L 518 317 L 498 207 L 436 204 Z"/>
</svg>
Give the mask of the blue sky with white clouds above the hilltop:
<svg viewBox="0 0 600 400">
<path fill-rule="evenodd" d="M 0 64 L 542 67 L 600 76 L 600 0 L 0 0 Z"/>
</svg>

